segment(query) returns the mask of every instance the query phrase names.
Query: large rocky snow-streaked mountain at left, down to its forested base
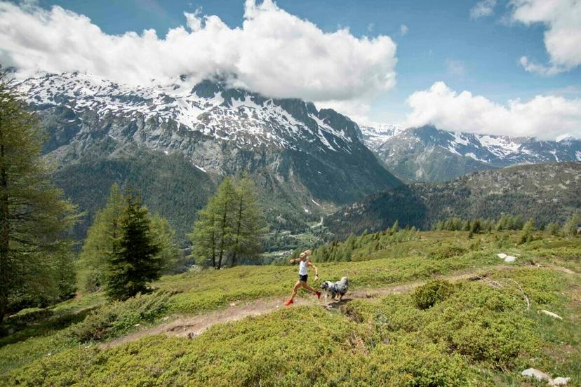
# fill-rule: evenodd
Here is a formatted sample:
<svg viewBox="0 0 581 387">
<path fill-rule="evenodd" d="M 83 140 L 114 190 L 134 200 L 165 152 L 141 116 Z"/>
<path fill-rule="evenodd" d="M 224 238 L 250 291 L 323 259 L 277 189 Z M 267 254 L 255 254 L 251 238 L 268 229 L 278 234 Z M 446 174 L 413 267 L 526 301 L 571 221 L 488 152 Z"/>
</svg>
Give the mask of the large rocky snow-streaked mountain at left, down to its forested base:
<svg viewBox="0 0 581 387">
<path fill-rule="evenodd" d="M 197 195 L 199 207 L 222 177 L 246 172 L 267 218 L 300 228 L 323 208 L 401 184 L 359 140 L 356 123 L 310 102 L 213 81 L 133 87 L 79 73 L 46 74 L 19 88 L 48 132 L 44 151 L 60 165 L 58 182 L 73 200 L 93 198 L 81 205 L 90 212 L 112 182 L 133 179 L 152 210 L 171 212 L 182 196 Z M 167 197 L 164 184 L 177 184 L 179 198 Z M 196 208 L 175 212 L 179 219 L 170 220 L 187 231 Z"/>
</svg>

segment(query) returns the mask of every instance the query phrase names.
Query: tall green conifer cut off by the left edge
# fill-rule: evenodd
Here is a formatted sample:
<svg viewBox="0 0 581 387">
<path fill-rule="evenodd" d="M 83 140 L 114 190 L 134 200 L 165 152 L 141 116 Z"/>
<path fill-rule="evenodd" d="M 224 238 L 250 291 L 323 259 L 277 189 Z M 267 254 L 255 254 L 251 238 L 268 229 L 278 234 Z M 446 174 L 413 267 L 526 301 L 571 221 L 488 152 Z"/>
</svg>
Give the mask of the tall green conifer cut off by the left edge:
<svg viewBox="0 0 581 387">
<path fill-rule="evenodd" d="M 55 273 L 78 220 L 74 205 L 50 182 L 36 117 L 0 69 L 0 323 L 14 297 L 58 297 Z"/>
</svg>

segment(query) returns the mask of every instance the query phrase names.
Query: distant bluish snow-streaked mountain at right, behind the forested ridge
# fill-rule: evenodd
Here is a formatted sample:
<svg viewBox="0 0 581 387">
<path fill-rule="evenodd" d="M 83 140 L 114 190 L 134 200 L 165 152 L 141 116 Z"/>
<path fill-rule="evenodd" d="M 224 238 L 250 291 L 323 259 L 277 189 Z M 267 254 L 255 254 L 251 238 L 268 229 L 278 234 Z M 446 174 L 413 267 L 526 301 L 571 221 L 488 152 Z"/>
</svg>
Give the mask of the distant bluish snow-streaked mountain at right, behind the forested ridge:
<svg viewBox="0 0 581 387">
<path fill-rule="evenodd" d="M 455 133 L 430 125 L 398 133 L 387 130 L 385 136 L 382 143 L 368 140 L 365 135 L 362 140 L 389 170 L 408 181 L 439 182 L 474 170 L 581 161 L 581 141 L 572 138 L 540 141 L 532 137 Z"/>
</svg>

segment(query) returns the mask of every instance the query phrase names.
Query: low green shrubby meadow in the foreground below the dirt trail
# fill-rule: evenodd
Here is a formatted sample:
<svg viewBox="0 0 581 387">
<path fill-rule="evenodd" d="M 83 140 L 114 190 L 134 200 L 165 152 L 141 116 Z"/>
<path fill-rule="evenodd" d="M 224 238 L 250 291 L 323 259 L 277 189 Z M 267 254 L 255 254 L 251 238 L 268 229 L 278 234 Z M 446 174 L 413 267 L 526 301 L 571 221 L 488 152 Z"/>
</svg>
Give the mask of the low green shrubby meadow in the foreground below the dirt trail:
<svg viewBox="0 0 581 387">
<path fill-rule="evenodd" d="M 495 271 L 516 288 L 463 281 L 432 308 L 413 294 L 357 299 L 214 325 L 196 339 L 163 335 L 106 350 L 70 348 L 8 375 L 23 386 L 497 386 L 537 367 L 581 383 L 575 276 Z M 558 311 L 556 321 L 537 311 Z M 565 351 L 563 348 L 568 348 Z"/>
</svg>

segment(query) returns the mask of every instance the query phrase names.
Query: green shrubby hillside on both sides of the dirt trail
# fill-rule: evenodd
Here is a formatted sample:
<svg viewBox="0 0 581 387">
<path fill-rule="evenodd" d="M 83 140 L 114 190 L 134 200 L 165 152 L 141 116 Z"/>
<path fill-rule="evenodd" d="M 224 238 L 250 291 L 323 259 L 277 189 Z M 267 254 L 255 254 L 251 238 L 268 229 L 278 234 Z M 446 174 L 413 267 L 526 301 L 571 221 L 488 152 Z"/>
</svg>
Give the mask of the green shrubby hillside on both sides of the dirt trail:
<svg viewBox="0 0 581 387">
<path fill-rule="evenodd" d="M 411 294 L 390 295 L 352 301 L 343 313 L 316 306 L 285 308 L 216 325 L 194 340 L 154 336 L 102 350 L 91 342 L 79 342 L 72 334 L 78 325 L 67 327 L 82 320 L 86 308 L 103 302 L 93 295 L 60 304 L 51 318 L 1 339 L 0 381 L 160 386 L 258 385 L 260 381 L 266 386 L 331 381 L 341 385 L 356 378 L 362 385 L 378 381 L 494 385 L 518 383 L 519 370 L 533 366 L 554 376 L 572 376 L 573 385 L 581 383 L 579 275 L 530 265 L 531 261 L 558 264 L 579 273 L 579 238 L 545 236 L 516 247 L 516 233 L 476 240 L 460 232 L 421 235 L 420 240 L 376 252 L 375 259 L 367 262 L 321 264 L 321 275 L 323 279 L 347 275 L 354 290 L 384 287 L 491 266 L 499 263 L 496 252 L 518 252 L 523 269 L 492 276 L 519 281 L 533 304 L 531 311 L 525 310 L 512 287 L 493 290 L 481 283 L 465 283 L 453 297 L 427 311 L 413 306 Z M 448 251 L 450 245 L 471 251 L 458 257 L 434 254 L 438 248 Z M 200 313 L 234 300 L 282 296 L 295 280 L 296 270 L 243 266 L 164 277 L 156 287 L 176 293 L 155 318 L 123 312 L 105 339 L 135 330 L 136 322 L 159 323 L 167 314 Z M 133 310 L 130 305 L 116 307 Z M 539 315 L 539 308 L 559 313 L 564 320 Z M 436 376 L 439 379 L 433 379 Z"/>
</svg>

